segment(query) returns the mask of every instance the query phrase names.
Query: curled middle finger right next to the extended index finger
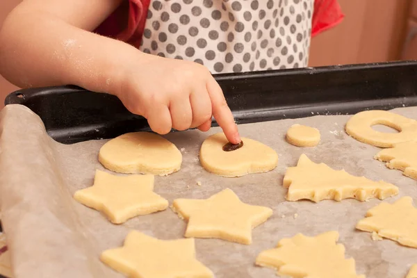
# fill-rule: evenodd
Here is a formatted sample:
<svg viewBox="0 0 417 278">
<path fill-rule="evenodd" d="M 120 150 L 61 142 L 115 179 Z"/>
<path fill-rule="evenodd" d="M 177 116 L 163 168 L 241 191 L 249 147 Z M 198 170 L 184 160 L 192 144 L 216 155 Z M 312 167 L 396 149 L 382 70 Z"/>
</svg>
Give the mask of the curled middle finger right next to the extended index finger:
<svg viewBox="0 0 417 278">
<path fill-rule="evenodd" d="M 193 111 L 191 127 L 201 126 L 208 120 L 210 120 L 211 124 L 211 116 L 213 114 L 211 112 L 211 100 L 206 86 L 202 86 L 200 90 L 191 93 L 190 104 Z"/>
</svg>

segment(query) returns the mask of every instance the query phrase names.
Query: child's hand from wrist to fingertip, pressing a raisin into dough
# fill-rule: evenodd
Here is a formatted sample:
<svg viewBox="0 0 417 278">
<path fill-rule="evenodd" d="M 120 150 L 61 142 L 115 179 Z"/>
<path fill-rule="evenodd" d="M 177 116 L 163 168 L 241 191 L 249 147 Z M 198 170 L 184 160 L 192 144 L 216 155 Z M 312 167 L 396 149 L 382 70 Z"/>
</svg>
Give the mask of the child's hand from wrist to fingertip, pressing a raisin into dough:
<svg viewBox="0 0 417 278">
<path fill-rule="evenodd" d="M 207 131 L 211 116 L 227 139 L 240 142 L 238 128 L 222 89 L 206 67 L 184 60 L 140 53 L 140 61 L 126 65 L 117 97 L 131 113 L 142 115 L 153 131 L 197 127 Z"/>
</svg>

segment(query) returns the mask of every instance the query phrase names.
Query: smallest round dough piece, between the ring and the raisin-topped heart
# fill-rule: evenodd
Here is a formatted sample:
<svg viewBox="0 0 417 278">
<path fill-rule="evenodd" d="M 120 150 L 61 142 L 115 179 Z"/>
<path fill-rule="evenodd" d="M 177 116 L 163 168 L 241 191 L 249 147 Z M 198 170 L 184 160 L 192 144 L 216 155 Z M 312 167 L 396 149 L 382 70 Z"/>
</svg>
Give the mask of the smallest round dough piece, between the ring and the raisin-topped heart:
<svg viewBox="0 0 417 278">
<path fill-rule="evenodd" d="M 320 142 L 320 131 L 311 126 L 293 124 L 286 133 L 286 140 L 297 147 L 315 147 Z"/>
</svg>

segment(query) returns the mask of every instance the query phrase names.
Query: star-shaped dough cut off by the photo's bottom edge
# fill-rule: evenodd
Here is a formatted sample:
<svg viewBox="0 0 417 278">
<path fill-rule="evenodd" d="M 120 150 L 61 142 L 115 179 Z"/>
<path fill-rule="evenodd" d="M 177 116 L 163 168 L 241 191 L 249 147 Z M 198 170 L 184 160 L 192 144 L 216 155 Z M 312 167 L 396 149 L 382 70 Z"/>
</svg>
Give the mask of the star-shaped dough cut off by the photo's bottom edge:
<svg viewBox="0 0 417 278">
<path fill-rule="evenodd" d="M 104 251 L 100 259 L 128 277 L 213 277 L 213 272 L 195 258 L 194 238 L 159 240 L 131 231 L 123 247 Z"/>
</svg>

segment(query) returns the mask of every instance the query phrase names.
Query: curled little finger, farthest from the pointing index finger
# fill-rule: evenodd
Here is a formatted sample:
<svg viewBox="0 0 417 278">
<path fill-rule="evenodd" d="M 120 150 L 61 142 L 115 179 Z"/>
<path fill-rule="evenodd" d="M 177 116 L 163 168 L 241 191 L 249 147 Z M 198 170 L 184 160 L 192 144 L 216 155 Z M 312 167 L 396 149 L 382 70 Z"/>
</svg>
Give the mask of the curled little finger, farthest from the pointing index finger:
<svg viewBox="0 0 417 278">
<path fill-rule="evenodd" d="M 149 108 L 149 111 L 147 111 L 147 121 L 152 131 L 156 133 L 166 134 L 171 131 L 172 120 L 170 110 L 163 104 Z"/>
</svg>

